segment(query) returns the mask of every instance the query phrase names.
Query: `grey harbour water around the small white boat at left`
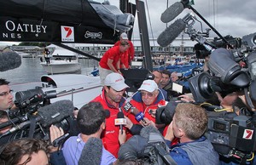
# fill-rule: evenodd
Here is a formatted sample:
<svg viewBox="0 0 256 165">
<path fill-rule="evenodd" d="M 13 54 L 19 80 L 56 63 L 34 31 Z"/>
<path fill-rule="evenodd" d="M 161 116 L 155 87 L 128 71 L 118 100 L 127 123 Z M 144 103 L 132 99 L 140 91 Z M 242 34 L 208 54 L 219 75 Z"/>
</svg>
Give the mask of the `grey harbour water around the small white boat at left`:
<svg viewBox="0 0 256 165">
<path fill-rule="evenodd" d="M 89 75 L 94 67 L 98 67 L 96 60 L 79 59 L 82 65 L 81 74 Z M 47 74 L 39 58 L 22 58 L 18 68 L 0 72 L 0 78 L 5 78 L 10 83 L 31 83 L 40 82 L 41 76 Z"/>
</svg>

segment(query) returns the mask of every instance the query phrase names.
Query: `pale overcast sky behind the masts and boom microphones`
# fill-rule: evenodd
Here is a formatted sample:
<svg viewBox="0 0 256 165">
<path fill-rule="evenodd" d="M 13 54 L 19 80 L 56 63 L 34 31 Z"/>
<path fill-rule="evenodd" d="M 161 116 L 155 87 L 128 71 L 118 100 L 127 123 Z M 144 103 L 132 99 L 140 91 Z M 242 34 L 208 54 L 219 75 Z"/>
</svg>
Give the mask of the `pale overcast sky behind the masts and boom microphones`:
<svg viewBox="0 0 256 165">
<path fill-rule="evenodd" d="M 97 1 L 102 3 L 104 0 Z M 110 4 L 119 7 L 119 0 L 108 1 Z M 135 3 L 135 0 L 130 0 L 130 2 Z M 166 24 L 160 21 L 160 15 L 166 10 L 167 0 L 143 0 L 143 2 L 145 3 L 145 9 L 149 10 L 151 20 L 151 26 L 148 21 L 149 37 L 152 37 L 153 31 L 154 38 L 157 38 L 160 35 L 160 32 L 166 29 Z M 169 6 L 176 2 L 180 1 L 169 0 Z M 193 8 L 196 9 L 197 12 L 200 13 L 212 26 L 214 26 L 222 36 L 231 35 L 233 37 L 242 37 L 256 32 L 256 3 L 254 0 L 194 0 L 194 2 L 195 5 L 193 5 Z M 185 14 L 191 12 L 192 10 L 185 9 L 182 14 L 177 16 L 177 18 L 183 18 Z M 148 17 L 147 11 L 146 14 Z M 174 20 L 177 20 L 177 18 Z M 200 20 L 198 16 L 197 18 Z M 168 23 L 167 26 L 170 26 L 174 20 Z M 208 28 L 203 21 L 202 23 L 204 25 L 203 30 Z M 139 37 L 137 20 L 133 34 L 134 38 Z M 210 34 L 213 37 L 217 37 L 213 31 L 210 31 Z M 184 37 L 188 36 L 185 35 Z M 0 43 L 0 45 L 1 44 L 3 43 Z"/>
</svg>

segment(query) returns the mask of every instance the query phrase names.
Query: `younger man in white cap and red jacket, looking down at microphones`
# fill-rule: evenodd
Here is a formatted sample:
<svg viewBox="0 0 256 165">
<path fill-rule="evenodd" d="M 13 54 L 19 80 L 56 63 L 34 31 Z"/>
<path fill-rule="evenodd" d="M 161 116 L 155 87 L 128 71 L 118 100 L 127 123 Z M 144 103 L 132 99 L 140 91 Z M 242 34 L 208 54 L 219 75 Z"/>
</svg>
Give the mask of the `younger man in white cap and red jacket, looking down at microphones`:
<svg viewBox="0 0 256 165">
<path fill-rule="evenodd" d="M 102 133 L 102 142 L 106 150 L 118 156 L 119 151 L 119 126 L 114 125 L 114 120 L 117 118 L 118 112 L 121 110 L 121 105 L 125 103 L 123 94 L 125 89 L 129 88 L 125 84 L 125 79 L 119 73 L 110 73 L 105 78 L 102 94 L 97 96 L 91 102 L 100 102 L 104 109 L 109 110 L 110 117 L 106 118 L 106 128 Z M 123 134 L 125 140 L 125 131 Z"/>
</svg>

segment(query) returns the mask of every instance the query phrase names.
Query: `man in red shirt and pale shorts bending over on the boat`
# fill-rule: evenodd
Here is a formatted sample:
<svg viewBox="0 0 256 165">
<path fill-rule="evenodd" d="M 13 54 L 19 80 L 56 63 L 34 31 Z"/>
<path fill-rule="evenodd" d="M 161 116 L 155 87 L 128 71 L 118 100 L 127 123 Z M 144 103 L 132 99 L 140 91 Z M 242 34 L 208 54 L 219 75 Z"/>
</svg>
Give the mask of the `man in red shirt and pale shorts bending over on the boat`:
<svg viewBox="0 0 256 165">
<path fill-rule="evenodd" d="M 119 46 L 109 48 L 108 51 L 103 54 L 102 60 L 100 60 L 99 63 L 99 73 L 102 84 L 104 83 L 105 77 L 107 77 L 109 73 L 117 72 L 121 74 L 119 71 L 120 58 L 128 48 L 129 43 L 124 41 L 121 42 Z"/>
</svg>

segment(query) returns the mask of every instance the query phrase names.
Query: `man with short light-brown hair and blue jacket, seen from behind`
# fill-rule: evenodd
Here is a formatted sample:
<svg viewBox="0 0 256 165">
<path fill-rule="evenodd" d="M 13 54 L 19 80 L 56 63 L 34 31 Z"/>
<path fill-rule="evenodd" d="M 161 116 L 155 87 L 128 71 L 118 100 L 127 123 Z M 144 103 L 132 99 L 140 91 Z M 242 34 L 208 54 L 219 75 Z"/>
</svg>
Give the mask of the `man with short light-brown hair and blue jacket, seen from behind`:
<svg viewBox="0 0 256 165">
<path fill-rule="evenodd" d="M 177 164 L 219 164 L 218 153 L 206 137 L 207 113 L 199 105 L 179 103 L 165 139 L 169 142 L 174 137 L 177 145 L 171 146 L 170 155 Z"/>
</svg>

